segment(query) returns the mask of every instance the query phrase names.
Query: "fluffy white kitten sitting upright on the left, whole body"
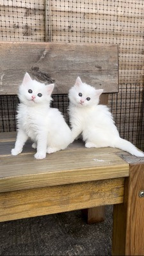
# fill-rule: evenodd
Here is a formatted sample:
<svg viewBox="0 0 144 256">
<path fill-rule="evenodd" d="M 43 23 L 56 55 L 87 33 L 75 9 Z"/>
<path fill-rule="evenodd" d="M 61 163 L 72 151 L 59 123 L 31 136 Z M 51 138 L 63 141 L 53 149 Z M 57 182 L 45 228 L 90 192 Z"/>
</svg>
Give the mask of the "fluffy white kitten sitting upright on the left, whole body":
<svg viewBox="0 0 144 256">
<path fill-rule="evenodd" d="M 65 149 L 70 144 L 70 128 L 60 111 L 49 106 L 53 88 L 54 84 L 38 83 L 25 74 L 19 87 L 18 133 L 13 156 L 22 152 L 28 138 L 34 141 L 32 147 L 37 148 L 36 159 L 43 159 L 46 153 Z"/>
</svg>

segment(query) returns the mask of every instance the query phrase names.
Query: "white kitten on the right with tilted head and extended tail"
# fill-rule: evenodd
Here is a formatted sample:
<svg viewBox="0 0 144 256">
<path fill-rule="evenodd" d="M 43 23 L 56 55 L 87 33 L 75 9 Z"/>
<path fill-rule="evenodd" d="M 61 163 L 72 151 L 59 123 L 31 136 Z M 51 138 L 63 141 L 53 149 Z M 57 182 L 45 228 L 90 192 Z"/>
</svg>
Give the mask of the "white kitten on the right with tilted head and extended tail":
<svg viewBox="0 0 144 256">
<path fill-rule="evenodd" d="M 77 77 L 76 84 L 70 89 L 69 115 L 72 139 L 82 133 L 85 147 L 116 147 L 132 155 L 144 157 L 131 142 L 120 138 L 108 107 L 99 104 L 103 90 L 95 90 Z"/>
</svg>

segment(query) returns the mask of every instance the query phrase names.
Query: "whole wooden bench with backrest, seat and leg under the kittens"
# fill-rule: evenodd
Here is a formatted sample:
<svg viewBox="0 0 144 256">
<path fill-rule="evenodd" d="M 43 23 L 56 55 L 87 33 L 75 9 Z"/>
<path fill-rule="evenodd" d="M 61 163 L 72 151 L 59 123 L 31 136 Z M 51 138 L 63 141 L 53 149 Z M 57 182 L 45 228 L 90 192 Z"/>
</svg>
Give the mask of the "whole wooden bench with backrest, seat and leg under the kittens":
<svg viewBox="0 0 144 256">
<path fill-rule="evenodd" d="M 118 91 L 117 45 L 0 43 L 0 67 L 1 95 L 17 94 L 26 71 L 56 83 L 58 94 L 78 75 L 104 88 L 103 103 Z M 101 218 L 99 207 L 113 204 L 113 255 L 144 254 L 143 160 L 117 148 L 84 148 L 82 141 L 39 161 L 28 141 L 13 157 L 15 138 L 0 133 L 0 221 L 76 209 L 94 209 Z"/>
</svg>

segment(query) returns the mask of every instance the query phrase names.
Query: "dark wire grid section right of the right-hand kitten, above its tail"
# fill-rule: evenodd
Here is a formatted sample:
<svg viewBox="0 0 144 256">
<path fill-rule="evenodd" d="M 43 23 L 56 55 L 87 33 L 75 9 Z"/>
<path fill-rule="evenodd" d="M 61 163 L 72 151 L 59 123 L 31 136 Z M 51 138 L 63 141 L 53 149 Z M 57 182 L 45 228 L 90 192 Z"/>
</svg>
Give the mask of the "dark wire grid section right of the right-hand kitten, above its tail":
<svg viewBox="0 0 144 256">
<path fill-rule="evenodd" d="M 144 150 L 143 84 L 120 84 L 119 92 L 109 95 L 109 108 L 120 136 Z"/>
</svg>

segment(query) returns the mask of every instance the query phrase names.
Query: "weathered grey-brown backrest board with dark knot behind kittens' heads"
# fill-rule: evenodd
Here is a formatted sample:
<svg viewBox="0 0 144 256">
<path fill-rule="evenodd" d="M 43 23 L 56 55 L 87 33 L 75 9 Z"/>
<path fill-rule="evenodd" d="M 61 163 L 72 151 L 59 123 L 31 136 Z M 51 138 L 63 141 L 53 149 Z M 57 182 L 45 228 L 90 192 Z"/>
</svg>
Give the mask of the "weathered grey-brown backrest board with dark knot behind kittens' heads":
<svg viewBox="0 0 144 256">
<path fill-rule="evenodd" d="M 17 94 L 25 72 L 44 83 L 55 83 L 54 93 L 67 93 L 77 76 L 82 81 L 118 91 L 118 45 L 0 43 L 0 94 Z"/>
</svg>

